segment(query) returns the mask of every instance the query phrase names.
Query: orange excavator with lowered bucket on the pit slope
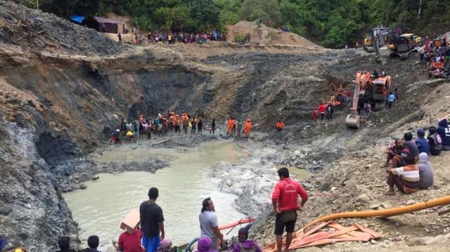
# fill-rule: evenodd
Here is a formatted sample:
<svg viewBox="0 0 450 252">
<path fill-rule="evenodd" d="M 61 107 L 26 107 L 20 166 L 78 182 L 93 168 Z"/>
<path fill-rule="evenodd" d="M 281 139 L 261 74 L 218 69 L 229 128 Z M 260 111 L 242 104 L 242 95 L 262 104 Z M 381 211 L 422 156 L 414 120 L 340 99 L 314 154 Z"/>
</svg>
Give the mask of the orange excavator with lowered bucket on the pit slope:
<svg viewBox="0 0 450 252">
<path fill-rule="evenodd" d="M 347 114 L 345 118 L 345 125 L 349 128 L 359 128 L 361 125 L 361 117 L 358 114 L 359 99 L 364 102 L 374 104 L 373 110 L 378 111 L 383 109 L 385 105 L 385 98 L 391 87 L 391 77 L 378 77 L 373 79 L 370 72 L 356 73 L 354 81 L 353 105 L 352 112 Z"/>
</svg>

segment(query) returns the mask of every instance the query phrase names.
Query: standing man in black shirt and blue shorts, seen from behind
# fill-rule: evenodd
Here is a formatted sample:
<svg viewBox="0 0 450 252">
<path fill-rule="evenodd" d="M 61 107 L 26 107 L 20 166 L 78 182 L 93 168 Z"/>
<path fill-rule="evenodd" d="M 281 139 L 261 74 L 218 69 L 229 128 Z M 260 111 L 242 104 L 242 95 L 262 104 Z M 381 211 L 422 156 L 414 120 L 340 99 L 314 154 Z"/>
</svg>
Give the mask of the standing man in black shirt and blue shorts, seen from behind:
<svg viewBox="0 0 450 252">
<path fill-rule="evenodd" d="M 151 187 L 148 190 L 148 201 L 143 201 L 139 208 L 143 252 L 158 251 L 160 240 L 164 239 L 164 216 L 160 206 L 155 203 L 158 196 L 158 188 Z"/>
</svg>

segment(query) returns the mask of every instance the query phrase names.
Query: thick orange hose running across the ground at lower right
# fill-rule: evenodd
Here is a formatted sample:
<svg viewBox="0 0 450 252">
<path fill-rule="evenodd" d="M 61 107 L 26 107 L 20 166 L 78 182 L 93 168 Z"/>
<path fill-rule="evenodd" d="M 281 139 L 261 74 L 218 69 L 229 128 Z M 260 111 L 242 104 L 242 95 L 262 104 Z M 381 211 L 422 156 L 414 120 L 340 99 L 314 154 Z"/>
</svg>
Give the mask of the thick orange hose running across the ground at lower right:
<svg viewBox="0 0 450 252">
<path fill-rule="evenodd" d="M 308 227 L 316 225 L 317 223 L 321 223 L 323 221 L 334 220 L 338 218 L 366 218 L 366 217 L 374 217 L 374 216 L 394 216 L 400 215 L 404 213 L 411 213 L 414 211 L 420 211 L 426 208 L 432 208 L 435 206 L 442 206 L 450 204 L 450 195 L 441 197 L 439 199 L 431 199 L 426 202 L 420 202 L 417 204 L 412 204 L 410 206 L 401 206 L 397 208 L 390 208 L 384 210 L 374 210 L 374 211 L 361 211 L 361 212 L 344 212 L 344 213 L 333 213 L 330 215 L 323 216 L 317 220 L 308 223 L 306 226 L 302 227 L 299 232 L 303 232 L 307 230 Z"/>
</svg>

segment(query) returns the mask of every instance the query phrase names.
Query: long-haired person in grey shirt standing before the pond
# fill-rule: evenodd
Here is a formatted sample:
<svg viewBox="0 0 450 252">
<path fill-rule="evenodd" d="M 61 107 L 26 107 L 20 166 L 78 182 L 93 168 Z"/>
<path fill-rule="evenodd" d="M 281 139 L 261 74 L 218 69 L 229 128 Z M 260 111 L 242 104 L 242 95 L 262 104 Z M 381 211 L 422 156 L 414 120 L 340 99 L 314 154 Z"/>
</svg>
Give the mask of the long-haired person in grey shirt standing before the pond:
<svg viewBox="0 0 450 252">
<path fill-rule="evenodd" d="M 219 241 L 224 246 L 224 235 L 219 230 L 217 215 L 212 213 L 214 211 L 214 203 L 210 197 L 203 199 L 202 211 L 198 215 L 200 220 L 201 237 L 208 237 L 211 239 L 210 251 L 217 251 L 219 248 Z"/>
</svg>

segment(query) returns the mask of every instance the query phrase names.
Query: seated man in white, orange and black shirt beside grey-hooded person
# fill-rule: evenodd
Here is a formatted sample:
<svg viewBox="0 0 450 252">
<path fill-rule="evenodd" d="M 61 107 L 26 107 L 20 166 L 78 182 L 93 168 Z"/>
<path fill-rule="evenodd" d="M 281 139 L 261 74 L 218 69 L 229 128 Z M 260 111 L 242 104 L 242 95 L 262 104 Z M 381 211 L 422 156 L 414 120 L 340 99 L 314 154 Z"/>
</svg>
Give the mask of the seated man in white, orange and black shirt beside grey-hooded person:
<svg viewBox="0 0 450 252">
<path fill-rule="evenodd" d="M 419 169 L 416 166 L 416 158 L 411 154 L 407 154 L 405 157 L 406 166 L 400 168 L 387 168 L 387 190 L 385 195 L 394 195 L 394 185 L 397 186 L 400 192 L 406 194 L 416 192 L 419 187 Z"/>
</svg>

